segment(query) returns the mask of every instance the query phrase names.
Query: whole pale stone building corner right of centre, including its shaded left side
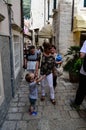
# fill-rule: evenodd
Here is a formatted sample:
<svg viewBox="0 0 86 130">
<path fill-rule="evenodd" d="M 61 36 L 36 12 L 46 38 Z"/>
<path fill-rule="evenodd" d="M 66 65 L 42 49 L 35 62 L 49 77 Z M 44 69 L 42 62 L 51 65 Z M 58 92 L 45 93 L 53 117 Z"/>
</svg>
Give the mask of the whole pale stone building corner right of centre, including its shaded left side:
<svg viewBox="0 0 86 130">
<path fill-rule="evenodd" d="M 57 51 L 64 55 L 67 49 L 74 45 L 72 23 L 72 0 L 60 0 L 56 16 L 54 15 L 55 45 Z M 55 22 L 56 21 L 56 22 Z"/>
</svg>

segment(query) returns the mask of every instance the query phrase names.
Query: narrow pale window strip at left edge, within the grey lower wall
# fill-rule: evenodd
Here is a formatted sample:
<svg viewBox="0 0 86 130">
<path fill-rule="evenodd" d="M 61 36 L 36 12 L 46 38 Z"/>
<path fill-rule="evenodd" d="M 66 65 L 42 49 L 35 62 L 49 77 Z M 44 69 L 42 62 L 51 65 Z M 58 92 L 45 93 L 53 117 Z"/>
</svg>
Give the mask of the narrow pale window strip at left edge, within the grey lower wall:
<svg viewBox="0 0 86 130">
<path fill-rule="evenodd" d="M 2 104 L 3 100 L 4 100 L 4 90 L 3 90 L 1 55 L 0 55 L 0 105 Z"/>
</svg>

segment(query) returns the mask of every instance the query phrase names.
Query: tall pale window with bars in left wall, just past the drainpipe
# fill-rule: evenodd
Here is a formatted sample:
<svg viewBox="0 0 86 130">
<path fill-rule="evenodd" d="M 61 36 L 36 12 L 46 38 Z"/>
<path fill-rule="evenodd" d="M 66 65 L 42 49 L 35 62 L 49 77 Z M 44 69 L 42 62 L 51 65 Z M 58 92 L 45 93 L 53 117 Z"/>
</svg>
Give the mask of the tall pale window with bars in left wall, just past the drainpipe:
<svg viewBox="0 0 86 130">
<path fill-rule="evenodd" d="M 14 41 L 14 47 L 13 47 L 13 50 L 14 50 L 14 75 L 15 75 L 15 78 L 20 70 L 20 40 L 19 40 L 19 36 L 17 35 L 14 35 L 13 36 L 13 41 Z"/>
</svg>

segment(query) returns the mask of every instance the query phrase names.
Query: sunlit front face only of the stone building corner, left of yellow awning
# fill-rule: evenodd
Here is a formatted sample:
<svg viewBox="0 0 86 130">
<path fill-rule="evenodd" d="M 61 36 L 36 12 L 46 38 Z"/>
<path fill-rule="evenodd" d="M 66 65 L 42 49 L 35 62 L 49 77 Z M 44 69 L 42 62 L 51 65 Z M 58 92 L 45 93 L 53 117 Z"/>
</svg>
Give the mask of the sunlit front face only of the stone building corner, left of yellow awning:
<svg viewBox="0 0 86 130">
<path fill-rule="evenodd" d="M 61 2 L 59 6 L 59 51 L 63 54 L 70 45 L 73 45 L 73 33 L 71 31 L 72 3 Z"/>
</svg>

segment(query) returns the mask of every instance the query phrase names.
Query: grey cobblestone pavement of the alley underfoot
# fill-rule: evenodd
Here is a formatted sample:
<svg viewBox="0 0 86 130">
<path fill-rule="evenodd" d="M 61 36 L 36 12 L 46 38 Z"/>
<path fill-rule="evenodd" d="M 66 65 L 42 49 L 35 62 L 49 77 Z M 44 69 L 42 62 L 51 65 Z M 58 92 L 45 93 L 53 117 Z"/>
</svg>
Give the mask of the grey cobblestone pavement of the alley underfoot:
<svg viewBox="0 0 86 130">
<path fill-rule="evenodd" d="M 70 99 L 74 99 L 78 84 L 70 83 L 67 77 L 63 74 L 57 79 L 55 106 L 50 102 L 48 87 L 45 101 L 40 101 L 41 87 L 38 86 L 36 116 L 28 113 L 28 86 L 23 79 L 0 130 L 86 130 L 86 100 L 79 112 L 70 107 Z"/>
</svg>

